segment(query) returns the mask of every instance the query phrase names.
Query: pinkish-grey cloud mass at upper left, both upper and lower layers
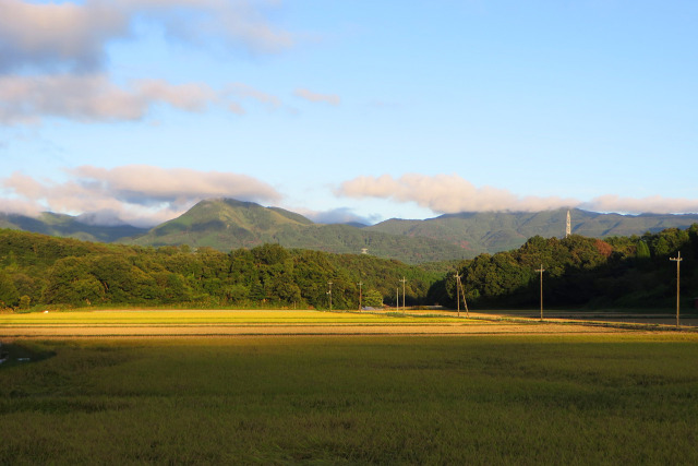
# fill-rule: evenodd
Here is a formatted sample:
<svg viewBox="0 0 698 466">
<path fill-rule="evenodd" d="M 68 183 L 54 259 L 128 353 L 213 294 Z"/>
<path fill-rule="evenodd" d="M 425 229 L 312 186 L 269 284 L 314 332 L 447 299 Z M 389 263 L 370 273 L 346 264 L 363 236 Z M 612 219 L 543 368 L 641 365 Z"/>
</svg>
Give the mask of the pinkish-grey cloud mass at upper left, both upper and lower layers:
<svg viewBox="0 0 698 466">
<path fill-rule="evenodd" d="M 165 80 L 117 85 L 105 64 L 109 43 L 137 39 L 136 22 L 195 46 L 281 51 L 296 39 L 269 20 L 279 5 L 275 0 L 0 0 L 0 124 L 36 123 L 46 117 L 140 120 L 161 104 L 203 111 L 216 103 L 244 115 L 238 101 L 230 101 L 232 96 L 276 109 L 281 106 L 278 97 L 242 83 L 221 92 Z"/>
</svg>

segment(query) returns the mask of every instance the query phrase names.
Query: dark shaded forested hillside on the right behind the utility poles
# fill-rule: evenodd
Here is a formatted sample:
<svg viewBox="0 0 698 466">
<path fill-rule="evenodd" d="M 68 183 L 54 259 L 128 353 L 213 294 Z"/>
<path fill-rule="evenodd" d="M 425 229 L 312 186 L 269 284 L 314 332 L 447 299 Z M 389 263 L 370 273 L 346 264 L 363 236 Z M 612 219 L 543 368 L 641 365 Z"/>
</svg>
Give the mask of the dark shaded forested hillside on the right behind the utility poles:
<svg viewBox="0 0 698 466">
<path fill-rule="evenodd" d="M 530 238 L 521 248 L 480 254 L 459 270 L 469 304 L 481 308 L 534 308 L 543 300 L 557 308 L 666 308 L 676 296 L 676 262 L 681 252 L 682 307 L 698 297 L 698 224 L 641 237 L 605 241 L 571 235 Z M 433 299 L 455 304 L 455 274 L 436 284 Z"/>
</svg>

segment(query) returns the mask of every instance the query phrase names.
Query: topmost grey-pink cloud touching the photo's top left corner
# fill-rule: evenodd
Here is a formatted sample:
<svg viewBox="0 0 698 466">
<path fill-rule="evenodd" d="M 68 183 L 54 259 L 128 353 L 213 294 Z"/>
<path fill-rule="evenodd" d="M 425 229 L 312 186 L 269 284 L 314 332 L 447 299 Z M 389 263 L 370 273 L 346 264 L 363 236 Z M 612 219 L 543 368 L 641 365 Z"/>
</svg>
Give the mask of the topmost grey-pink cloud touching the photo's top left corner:
<svg viewBox="0 0 698 466">
<path fill-rule="evenodd" d="M 0 72 L 23 69 L 99 69 L 106 45 L 134 35 L 133 22 L 159 24 L 169 37 L 201 45 L 275 53 L 293 46 L 293 36 L 275 27 L 266 10 L 277 2 L 244 0 L 85 0 L 84 2 L 0 2 Z"/>
</svg>

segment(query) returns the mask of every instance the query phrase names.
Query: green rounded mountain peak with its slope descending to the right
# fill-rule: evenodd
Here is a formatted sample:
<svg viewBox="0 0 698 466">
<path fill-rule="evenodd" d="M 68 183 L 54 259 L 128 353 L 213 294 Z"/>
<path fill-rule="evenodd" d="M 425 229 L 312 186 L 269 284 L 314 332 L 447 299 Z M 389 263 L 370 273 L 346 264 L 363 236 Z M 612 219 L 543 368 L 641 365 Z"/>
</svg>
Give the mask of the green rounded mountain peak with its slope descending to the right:
<svg viewBox="0 0 698 466">
<path fill-rule="evenodd" d="M 388 235 L 351 225 L 314 224 L 282 208 L 230 199 L 202 201 L 180 217 L 128 242 L 155 247 L 186 243 L 222 251 L 275 242 L 285 248 L 336 253 L 358 254 L 366 250 L 373 255 L 409 263 L 472 255 L 457 244 L 437 239 Z"/>
</svg>

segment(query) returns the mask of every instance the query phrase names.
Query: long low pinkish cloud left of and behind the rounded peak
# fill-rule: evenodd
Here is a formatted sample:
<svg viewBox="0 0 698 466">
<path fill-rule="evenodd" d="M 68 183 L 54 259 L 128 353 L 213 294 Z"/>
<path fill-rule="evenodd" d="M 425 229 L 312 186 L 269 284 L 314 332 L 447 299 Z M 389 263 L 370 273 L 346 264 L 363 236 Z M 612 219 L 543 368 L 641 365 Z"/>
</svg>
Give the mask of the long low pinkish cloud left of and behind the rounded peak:
<svg viewBox="0 0 698 466">
<path fill-rule="evenodd" d="M 10 211 L 13 205 L 20 205 L 25 212 L 101 213 L 101 217 L 95 218 L 155 225 L 182 214 L 204 199 L 255 202 L 281 199 L 269 184 L 230 172 L 131 165 L 112 169 L 82 166 L 67 174 L 69 180 L 60 183 L 19 172 L 0 179 L 0 187 L 15 200 L 12 205 L 3 201 L 0 210 Z"/>
</svg>

